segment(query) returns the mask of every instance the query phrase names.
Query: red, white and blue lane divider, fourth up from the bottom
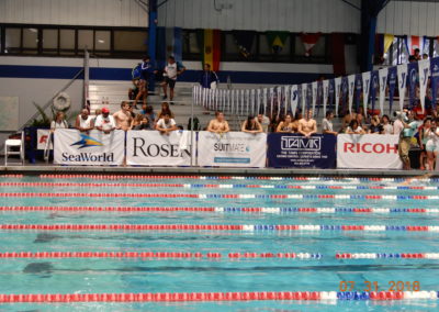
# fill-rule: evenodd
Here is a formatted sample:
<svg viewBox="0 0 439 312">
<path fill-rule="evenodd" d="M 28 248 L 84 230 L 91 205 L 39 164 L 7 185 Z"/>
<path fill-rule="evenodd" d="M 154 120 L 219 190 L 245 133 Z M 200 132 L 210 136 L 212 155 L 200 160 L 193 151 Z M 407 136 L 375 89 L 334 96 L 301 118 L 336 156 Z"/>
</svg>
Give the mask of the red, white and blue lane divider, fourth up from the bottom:
<svg viewBox="0 0 439 312">
<path fill-rule="evenodd" d="M 59 211 L 59 212 L 196 212 L 196 213 L 425 213 L 437 214 L 439 209 L 430 208 L 297 208 L 297 207 L 8 207 L 0 205 L 0 212 Z"/>
</svg>

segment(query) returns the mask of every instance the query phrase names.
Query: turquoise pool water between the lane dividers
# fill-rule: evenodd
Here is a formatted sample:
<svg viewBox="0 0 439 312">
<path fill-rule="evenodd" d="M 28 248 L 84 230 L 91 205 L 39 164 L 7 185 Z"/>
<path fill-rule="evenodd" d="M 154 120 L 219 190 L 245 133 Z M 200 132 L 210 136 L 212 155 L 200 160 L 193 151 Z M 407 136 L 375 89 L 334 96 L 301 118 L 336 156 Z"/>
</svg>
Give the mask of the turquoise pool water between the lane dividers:
<svg viewBox="0 0 439 312">
<path fill-rule="evenodd" d="M 102 183 L 102 186 L 90 186 L 90 183 Z M 435 198 L 439 193 L 439 182 L 436 180 L 413 180 L 408 185 L 402 185 L 401 181 L 392 179 L 389 181 L 193 178 L 105 180 L 0 177 L 0 207 L 3 208 L 0 212 L 1 224 L 246 225 L 245 231 L 1 230 L 1 253 L 166 252 L 204 255 L 201 258 L 0 258 L 0 293 L 4 294 L 339 291 L 342 281 L 353 281 L 353 290 L 358 291 L 365 288 L 365 281 L 375 282 L 379 290 L 389 290 L 391 285 L 397 281 L 403 281 L 405 287 L 413 287 L 413 282 L 418 281 L 421 290 L 439 290 L 439 259 L 386 256 L 403 253 L 439 253 L 439 232 L 412 232 L 401 227 L 403 225 L 439 226 L 439 211 L 437 211 L 439 199 Z M 336 186 L 339 188 L 334 188 Z M 66 193 L 68 196 L 23 197 L 22 193 L 58 196 Z M 102 193 L 105 197 L 78 197 L 72 193 Z M 120 196 L 109 197 L 110 193 Z M 133 194 L 153 194 L 153 197 L 134 197 Z M 172 194 L 176 197 L 171 197 Z M 181 194 L 196 194 L 196 197 L 183 198 L 180 197 Z M 241 198 L 225 198 L 224 194 L 239 194 Z M 254 194 L 263 197 L 255 198 Z M 306 197 L 269 197 L 273 194 L 306 194 Z M 323 194 L 336 197 L 323 198 Z M 348 197 L 340 198 L 340 194 Z M 398 196 L 398 198 L 363 197 L 378 194 Z M 410 198 L 413 196 L 432 198 L 413 199 Z M 54 209 L 47 211 L 4 209 L 12 207 L 52 207 Z M 92 211 L 92 209 L 90 211 L 80 211 L 80 209 L 60 211 L 55 209 L 57 207 L 216 209 L 116 212 Z M 243 208 L 266 209 L 248 212 L 243 211 Z M 297 211 L 297 208 L 328 208 L 328 210 L 313 212 Z M 352 208 L 390 210 L 361 213 L 352 212 Z M 404 209 L 425 210 L 404 212 Z M 277 231 L 269 225 L 320 225 L 322 229 L 325 229 L 325 225 L 328 226 L 324 231 L 306 229 Z M 330 230 L 333 225 L 386 225 L 393 226 L 393 230 L 340 231 L 337 227 Z M 206 258 L 207 253 L 219 253 L 222 257 Z M 295 253 L 296 257 L 230 258 L 228 256 L 230 253 L 256 253 L 257 255 Z M 337 258 L 338 253 L 385 255 L 373 259 L 352 259 Z M 436 300 L 389 302 L 338 300 L 326 302 L 88 302 L 75 303 L 75 305 L 74 303 L 8 303 L 1 304 L 0 311 L 34 309 L 71 311 L 74 308 L 76 311 L 435 311 L 439 309 Z"/>
</svg>

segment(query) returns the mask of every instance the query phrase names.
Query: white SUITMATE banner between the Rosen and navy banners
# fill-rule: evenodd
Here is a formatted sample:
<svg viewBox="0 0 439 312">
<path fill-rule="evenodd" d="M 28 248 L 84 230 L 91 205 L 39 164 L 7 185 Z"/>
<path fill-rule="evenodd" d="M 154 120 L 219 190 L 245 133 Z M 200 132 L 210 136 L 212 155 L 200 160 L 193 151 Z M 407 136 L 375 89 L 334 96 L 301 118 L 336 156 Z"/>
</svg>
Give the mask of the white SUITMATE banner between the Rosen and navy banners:
<svg viewBox="0 0 439 312">
<path fill-rule="evenodd" d="M 267 134 L 199 132 L 199 165 L 264 167 Z"/>
</svg>

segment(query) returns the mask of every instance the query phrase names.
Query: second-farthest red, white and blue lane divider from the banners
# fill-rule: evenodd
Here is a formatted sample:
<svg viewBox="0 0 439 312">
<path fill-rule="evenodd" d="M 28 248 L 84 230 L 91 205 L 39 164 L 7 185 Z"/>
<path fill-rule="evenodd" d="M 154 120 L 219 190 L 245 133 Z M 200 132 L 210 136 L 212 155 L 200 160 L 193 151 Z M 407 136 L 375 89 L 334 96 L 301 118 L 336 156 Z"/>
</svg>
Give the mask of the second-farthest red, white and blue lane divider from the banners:
<svg viewBox="0 0 439 312">
<path fill-rule="evenodd" d="M 38 188 L 187 188 L 187 189 L 297 189 L 297 190 L 438 190 L 427 186 L 296 186 L 296 185 L 194 185 L 194 183 L 134 183 L 134 182 L 0 182 L 0 187 Z"/>
</svg>

